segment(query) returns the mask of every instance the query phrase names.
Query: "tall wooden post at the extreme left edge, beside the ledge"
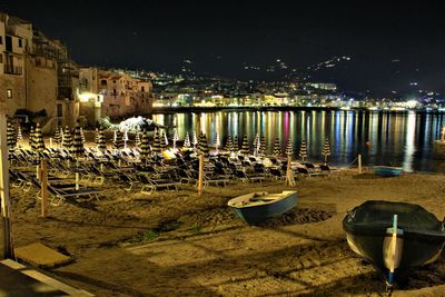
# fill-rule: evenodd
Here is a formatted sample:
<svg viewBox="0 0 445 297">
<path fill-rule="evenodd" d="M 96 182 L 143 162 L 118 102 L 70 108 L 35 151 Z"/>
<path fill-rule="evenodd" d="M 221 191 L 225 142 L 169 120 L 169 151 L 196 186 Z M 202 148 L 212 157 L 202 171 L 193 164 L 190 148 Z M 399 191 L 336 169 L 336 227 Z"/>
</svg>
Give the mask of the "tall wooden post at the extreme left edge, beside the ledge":
<svg viewBox="0 0 445 297">
<path fill-rule="evenodd" d="M 0 198 L 1 221 L 3 225 L 3 257 L 13 258 L 12 228 L 11 228 L 11 200 L 9 197 L 9 164 L 7 146 L 7 117 L 6 109 L 0 102 Z"/>
</svg>

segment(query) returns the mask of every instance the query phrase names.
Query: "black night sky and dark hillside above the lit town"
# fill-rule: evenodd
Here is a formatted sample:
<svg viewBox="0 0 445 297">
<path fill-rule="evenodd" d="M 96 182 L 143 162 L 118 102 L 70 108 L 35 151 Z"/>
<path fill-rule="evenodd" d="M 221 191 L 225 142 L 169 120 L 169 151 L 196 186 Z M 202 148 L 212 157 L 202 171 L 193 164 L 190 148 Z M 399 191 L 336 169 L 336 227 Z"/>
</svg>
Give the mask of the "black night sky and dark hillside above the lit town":
<svg viewBox="0 0 445 297">
<path fill-rule="evenodd" d="M 261 2 L 2 0 L 0 10 L 61 39 L 81 65 L 178 72 L 189 59 L 198 73 L 245 80 L 296 69 L 344 90 L 445 92 L 441 1 Z M 277 59 L 288 68 L 277 71 Z"/>
</svg>

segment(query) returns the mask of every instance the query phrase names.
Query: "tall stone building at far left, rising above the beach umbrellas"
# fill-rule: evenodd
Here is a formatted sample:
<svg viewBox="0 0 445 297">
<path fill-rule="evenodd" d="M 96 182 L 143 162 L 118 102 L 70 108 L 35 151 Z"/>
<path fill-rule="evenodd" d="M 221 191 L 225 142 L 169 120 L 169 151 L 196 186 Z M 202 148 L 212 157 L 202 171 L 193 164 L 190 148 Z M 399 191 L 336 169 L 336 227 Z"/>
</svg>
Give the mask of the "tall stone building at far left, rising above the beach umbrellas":
<svg viewBox="0 0 445 297">
<path fill-rule="evenodd" d="M 79 77 L 67 48 L 17 17 L 0 13 L 0 97 L 7 115 L 36 115 L 43 130 L 73 126 Z"/>
</svg>

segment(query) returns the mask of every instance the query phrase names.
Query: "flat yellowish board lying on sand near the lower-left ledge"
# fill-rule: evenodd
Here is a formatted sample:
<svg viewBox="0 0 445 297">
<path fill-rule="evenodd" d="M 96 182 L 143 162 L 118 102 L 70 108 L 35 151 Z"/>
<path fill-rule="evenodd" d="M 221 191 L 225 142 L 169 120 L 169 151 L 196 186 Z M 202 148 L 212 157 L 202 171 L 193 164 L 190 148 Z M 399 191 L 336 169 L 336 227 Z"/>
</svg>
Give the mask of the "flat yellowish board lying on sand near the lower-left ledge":
<svg viewBox="0 0 445 297">
<path fill-rule="evenodd" d="M 40 242 L 18 247 L 14 253 L 17 258 L 37 267 L 55 267 L 71 261 L 70 257 Z"/>
</svg>

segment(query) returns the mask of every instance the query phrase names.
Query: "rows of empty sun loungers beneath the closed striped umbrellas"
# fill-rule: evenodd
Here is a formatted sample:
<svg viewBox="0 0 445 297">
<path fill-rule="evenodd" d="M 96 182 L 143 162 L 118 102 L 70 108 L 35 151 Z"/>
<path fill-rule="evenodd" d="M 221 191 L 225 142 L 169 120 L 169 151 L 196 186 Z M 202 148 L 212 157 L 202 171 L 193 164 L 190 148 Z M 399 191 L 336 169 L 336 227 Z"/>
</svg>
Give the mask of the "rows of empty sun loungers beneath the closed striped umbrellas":
<svg viewBox="0 0 445 297">
<path fill-rule="evenodd" d="M 106 151 L 98 155 L 97 151 L 88 149 L 83 158 L 77 159 L 63 149 L 47 149 L 39 154 L 19 149 L 10 158 L 14 168 L 10 171 L 12 185 L 26 191 L 32 187 L 40 190 L 36 170 L 26 170 L 38 165 L 43 158 L 49 168 L 48 192 L 51 195 L 52 205 L 60 205 L 67 200 L 99 200 L 100 190 L 97 188 L 76 189 L 72 182 L 76 174 L 80 176 L 81 182 L 93 184 L 97 187 L 106 181 L 119 182 L 127 191 L 139 190 L 144 194 L 162 189 L 178 190 L 182 185 L 197 186 L 198 182 L 199 162 L 190 155 L 177 155 L 174 160 L 155 156 L 141 161 L 136 150 L 120 154 Z M 263 182 L 267 178 L 285 179 L 287 164 L 274 158 L 270 158 L 270 161 L 273 166 L 266 167 L 256 157 L 209 158 L 205 166 L 204 186 L 226 186 L 234 179 L 241 182 Z M 329 174 L 329 167 L 315 168 L 310 164 L 304 164 L 293 168 L 293 174 L 300 177 L 326 176 Z"/>
</svg>

